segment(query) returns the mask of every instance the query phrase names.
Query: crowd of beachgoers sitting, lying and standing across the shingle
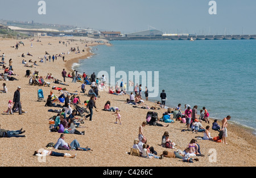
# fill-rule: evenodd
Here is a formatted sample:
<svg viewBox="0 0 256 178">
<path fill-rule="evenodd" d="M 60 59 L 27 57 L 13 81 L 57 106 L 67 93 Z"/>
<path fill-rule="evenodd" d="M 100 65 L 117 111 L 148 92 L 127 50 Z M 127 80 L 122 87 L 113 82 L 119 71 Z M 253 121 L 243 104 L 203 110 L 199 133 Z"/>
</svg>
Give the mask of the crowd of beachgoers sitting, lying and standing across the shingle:
<svg viewBox="0 0 256 178">
<path fill-rule="evenodd" d="M 71 52 L 80 52 L 79 47 L 77 48 L 71 48 Z M 28 56 L 32 56 L 29 52 L 27 53 Z M 47 56 L 48 55 L 48 56 Z M 62 56 L 63 55 L 63 56 Z M 5 64 L 5 54 L 3 53 L 2 57 L 2 64 Z M 24 54 L 22 55 L 24 56 Z M 43 58 L 41 58 L 41 63 L 51 62 L 54 63 L 58 59 L 58 57 L 63 57 L 64 61 L 64 53 L 60 55 L 50 55 L 47 51 Z M 32 61 L 28 61 L 28 63 L 31 63 Z M 28 65 L 26 60 L 22 60 L 22 64 L 24 64 L 26 67 L 34 67 L 38 64 L 36 64 L 36 61 L 32 62 L 33 65 Z M 3 66 L 4 68 L 5 66 Z M 9 60 L 9 67 L 4 68 L 4 73 L 0 74 L 0 80 L 8 81 L 8 80 L 17 80 L 13 76 L 15 74 L 13 73 L 13 61 Z M 79 128 L 81 127 L 81 123 L 79 121 L 82 121 L 82 119 L 79 119 L 79 117 L 83 117 L 84 119 L 89 118 L 89 121 L 93 121 L 93 109 L 95 108 L 96 111 L 98 111 L 96 107 L 96 101 L 97 98 L 99 98 L 99 88 L 109 88 L 110 94 L 115 94 L 117 96 L 126 96 L 127 93 L 127 83 L 121 81 L 120 84 L 116 83 L 115 86 L 108 86 L 106 77 L 104 75 L 101 76 L 101 78 L 97 78 L 95 73 L 92 73 L 89 77 L 87 74 L 82 73 L 79 74 L 78 71 L 74 70 L 72 71 L 72 74 L 68 73 L 63 69 L 61 71 L 61 76 L 63 77 L 63 81 L 55 78 L 52 76 L 52 74 L 47 74 L 47 76 L 44 78 L 42 75 L 39 75 L 38 71 L 35 71 L 31 75 L 30 70 L 26 70 L 25 77 L 30 77 L 29 83 L 31 85 L 39 85 L 39 86 L 50 86 L 51 82 L 45 81 L 52 80 L 54 84 L 60 84 L 68 86 L 66 83 L 66 79 L 72 78 L 73 83 L 79 82 L 78 88 L 81 88 L 81 93 L 85 93 L 86 91 L 86 85 L 89 85 L 88 90 L 88 96 L 90 97 L 89 100 L 84 101 L 84 104 L 80 101 L 80 97 L 77 96 L 77 94 L 69 93 L 65 90 L 59 89 L 60 96 L 56 97 L 55 94 L 48 95 L 47 101 L 45 106 L 47 107 L 60 107 L 59 111 L 56 115 L 53 115 L 51 118 L 53 123 L 49 126 L 50 131 L 58 132 L 60 133 L 60 138 L 57 140 L 56 144 L 54 144 L 54 147 L 56 150 L 79 150 L 79 151 L 92 151 L 91 148 L 87 147 L 81 147 L 80 143 L 77 139 L 74 139 L 70 144 L 65 142 L 65 135 L 64 134 L 76 134 L 76 135 L 85 135 L 85 131 L 79 131 Z M 141 84 L 134 85 L 133 81 L 129 81 L 129 86 L 133 86 L 133 92 L 130 93 L 129 98 L 127 98 L 126 103 L 131 105 L 146 105 L 145 101 L 142 98 L 142 88 L 144 87 L 144 97 L 146 101 L 148 101 L 148 89 L 147 86 L 142 86 Z M 22 111 L 22 102 L 20 101 L 20 89 L 21 87 L 18 86 L 14 93 L 13 100 L 9 100 L 7 110 L 5 111 L 7 114 L 14 114 L 16 111 L 18 111 L 19 114 L 23 114 Z M 6 83 L 3 83 L 3 90 L 0 90 L 0 93 L 7 93 L 7 86 Z M 135 95 L 134 95 L 135 94 Z M 73 95 L 73 96 L 72 96 Z M 214 140 L 213 136 L 210 134 L 210 122 L 209 122 L 209 113 L 208 110 L 203 107 L 200 110 L 200 117 L 197 115 L 197 105 L 191 109 L 191 106 L 185 105 L 185 111 L 184 113 L 181 113 L 181 104 L 177 105 L 174 110 L 170 110 L 169 107 L 166 106 L 166 100 L 167 100 L 167 94 L 165 90 L 162 90 L 160 93 L 160 100 L 161 102 L 156 102 L 155 105 L 160 106 L 162 109 L 168 109 L 167 112 L 163 113 L 162 117 L 158 118 L 158 121 L 163 121 L 165 123 L 174 123 L 175 121 L 180 121 L 181 123 L 185 123 L 184 131 L 192 131 L 192 133 L 204 133 L 202 139 L 203 140 Z M 78 107 L 81 105 L 85 105 L 84 107 Z M 84 110 L 80 110 L 84 109 Z M 149 108 L 150 109 L 150 108 Z M 119 123 L 121 125 L 121 111 L 119 107 L 113 107 L 110 105 L 110 101 L 107 101 L 104 109 L 105 111 L 112 111 L 114 117 L 115 117 L 115 124 Z M 84 114 L 87 113 L 87 114 Z M 230 115 L 228 115 L 226 118 L 222 119 L 221 126 L 217 124 L 217 120 L 215 120 L 212 123 L 212 130 L 217 131 L 218 133 L 221 133 L 221 139 L 223 143 L 226 143 L 226 138 L 228 136 L 228 120 L 230 119 Z M 185 119 L 185 121 L 184 121 Z M 203 127 L 202 122 L 208 123 L 206 127 Z M 144 127 L 147 126 L 147 122 L 143 122 L 141 126 L 139 126 L 139 134 L 138 138 L 134 140 L 133 147 L 134 149 L 138 149 L 139 155 L 142 158 L 155 158 L 155 159 L 163 159 L 166 158 L 178 158 L 182 159 L 183 162 L 193 163 L 193 161 L 199 161 L 198 158 L 193 158 L 193 156 L 204 156 L 200 152 L 200 146 L 197 143 L 196 139 L 191 139 L 191 142 L 188 143 L 187 147 L 184 148 L 184 150 L 176 150 L 176 151 L 170 151 L 166 150 L 163 151 L 162 154 L 158 155 L 156 152 L 156 149 L 152 146 L 149 146 L 147 144 L 147 136 L 144 134 Z M 157 125 L 157 126 L 160 126 Z M 4 130 L 0 129 L 0 137 L 24 137 L 23 134 L 25 131 L 20 130 Z M 162 147 L 164 148 L 171 148 L 176 149 L 176 143 L 174 143 L 170 139 L 170 133 L 168 131 L 164 132 L 161 140 Z M 76 158 L 76 155 L 69 155 L 69 154 L 63 154 L 56 151 L 49 151 L 49 150 L 43 150 L 39 151 L 36 150 L 34 152 L 35 156 L 42 156 L 42 155 L 51 155 L 51 156 L 62 156 L 65 158 Z M 192 157 L 192 158 L 191 158 Z"/>
</svg>

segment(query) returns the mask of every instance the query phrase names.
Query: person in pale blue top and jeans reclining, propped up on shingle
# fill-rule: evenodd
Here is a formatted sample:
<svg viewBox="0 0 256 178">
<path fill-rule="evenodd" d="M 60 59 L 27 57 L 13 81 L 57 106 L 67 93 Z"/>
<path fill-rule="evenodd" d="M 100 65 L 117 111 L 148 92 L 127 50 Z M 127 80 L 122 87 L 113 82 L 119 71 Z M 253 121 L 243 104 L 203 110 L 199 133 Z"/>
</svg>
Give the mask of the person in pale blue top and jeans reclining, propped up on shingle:
<svg viewBox="0 0 256 178">
<path fill-rule="evenodd" d="M 61 134 L 60 138 L 57 140 L 54 148 L 56 150 L 81 150 L 81 151 L 93 151 L 91 148 L 82 148 L 80 147 L 79 142 L 75 139 L 70 144 L 65 142 L 65 135 Z"/>
</svg>

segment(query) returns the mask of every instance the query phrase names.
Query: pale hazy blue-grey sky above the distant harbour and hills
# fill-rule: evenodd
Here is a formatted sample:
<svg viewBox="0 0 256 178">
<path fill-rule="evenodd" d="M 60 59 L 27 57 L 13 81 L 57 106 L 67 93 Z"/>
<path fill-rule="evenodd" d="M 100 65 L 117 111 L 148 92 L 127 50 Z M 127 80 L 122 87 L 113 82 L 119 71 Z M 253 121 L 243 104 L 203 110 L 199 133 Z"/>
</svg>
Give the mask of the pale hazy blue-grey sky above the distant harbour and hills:
<svg viewBox="0 0 256 178">
<path fill-rule="evenodd" d="M 155 28 L 167 33 L 256 34 L 256 1 L 216 0 L 44 0 L 46 15 L 38 14 L 39 0 L 0 0 L 0 19 L 70 24 L 122 33 Z"/>
</svg>

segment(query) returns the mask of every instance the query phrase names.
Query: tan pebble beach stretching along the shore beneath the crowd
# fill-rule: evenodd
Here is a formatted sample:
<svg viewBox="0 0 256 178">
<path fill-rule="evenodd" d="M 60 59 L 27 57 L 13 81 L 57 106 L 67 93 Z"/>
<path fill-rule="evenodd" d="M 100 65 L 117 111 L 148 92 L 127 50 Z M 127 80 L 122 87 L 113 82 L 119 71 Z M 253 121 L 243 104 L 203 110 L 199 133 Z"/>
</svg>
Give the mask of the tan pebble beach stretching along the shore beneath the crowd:
<svg viewBox="0 0 256 178">
<path fill-rule="evenodd" d="M 96 106 L 99 111 L 93 109 L 93 122 L 85 120 L 78 128 L 79 131 L 85 131 L 85 135 L 65 134 L 65 141 L 71 143 L 73 139 L 77 139 L 81 147 L 90 147 L 93 151 L 68 151 L 69 154 L 77 154 L 76 159 L 59 158 L 55 156 L 47 156 L 45 162 L 40 162 L 37 156 L 33 156 L 35 150 L 46 148 L 50 142 L 56 143 L 59 139 L 59 133 L 49 131 L 48 119 L 57 113 L 48 112 L 54 107 L 44 106 L 46 102 L 38 102 L 38 89 L 42 88 L 45 100 L 47 96 L 53 91 L 56 96 L 59 96 L 57 90 L 53 90 L 52 86 L 66 88 L 68 92 L 75 92 L 80 96 L 83 103 L 89 100 L 88 96 L 81 94 L 81 82 L 72 83 L 72 78 L 66 78 L 66 83 L 69 86 L 54 84 L 53 80 L 46 80 L 51 82 L 51 87 L 48 86 L 31 86 L 28 84 L 29 78 L 24 77 L 26 70 L 30 69 L 39 72 L 39 76 L 46 77 L 47 73 L 52 73 L 52 76 L 63 80 L 61 72 L 63 69 L 67 73 L 72 73 L 72 64 L 77 63 L 80 59 L 85 59 L 92 55 L 89 51 L 91 45 L 109 45 L 110 43 L 98 43 L 96 39 L 86 37 L 35 37 L 24 39 L 23 45 L 19 45 L 15 49 L 16 39 L 2 39 L 0 38 L 0 55 L 5 53 L 5 63 L 8 67 L 9 59 L 13 60 L 14 76 L 18 80 L 15 81 L 0 81 L 1 87 L 5 82 L 8 93 L 0 93 L 0 124 L 1 129 L 19 130 L 23 128 L 26 130 L 26 137 L 24 138 L 0 138 L 0 156 L 2 167 L 254 167 L 256 165 L 256 144 L 255 136 L 243 129 L 240 126 L 230 124 L 228 126 L 228 144 L 211 142 L 209 140 L 198 140 L 200 151 L 205 156 L 199 157 L 199 162 L 184 163 L 180 159 L 164 158 L 160 159 L 145 159 L 138 156 L 131 156 L 126 152 L 130 152 L 135 138 L 138 138 L 139 126 L 143 121 L 146 121 L 147 109 L 135 108 L 132 105 L 125 104 L 127 96 L 115 96 L 105 91 L 100 90 L 100 98 L 96 100 Z M 32 41 L 31 41 L 32 40 Z M 38 42 L 37 42 L 38 40 Z M 67 46 L 63 43 L 67 43 Z M 32 47 L 31 47 L 32 43 Z M 85 45 L 87 44 L 87 47 Z M 71 47 L 78 47 L 81 53 L 74 53 L 69 51 Z M 85 51 L 82 52 L 82 49 Z M 39 63 L 39 57 L 44 57 L 45 52 L 50 55 L 65 53 L 65 61 L 58 57 L 54 63 L 47 61 L 46 63 Z M 69 54 L 67 54 L 69 51 Z M 32 56 L 27 56 L 30 52 Z M 24 53 L 25 57 L 21 57 Z M 48 56 L 48 55 L 47 55 Z M 37 61 L 37 66 L 34 68 L 24 67 L 22 59 L 27 63 L 31 59 Z M 33 63 L 28 63 L 33 65 Z M 107 65 L 107 64 L 106 64 Z M 108 67 L 108 66 L 107 66 Z M 2 68 L 2 66 L 1 66 Z M 97 66 L 93 66 L 97 74 Z M 2 72 L 3 73 L 3 69 Z M 86 71 L 84 71 L 86 73 Z M 91 73 L 86 73 L 90 76 Z M 22 109 L 27 111 L 22 115 L 14 113 L 13 115 L 3 113 L 7 110 L 8 101 L 13 100 L 14 92 L 20 86 L 20 100 L 22 102 Z M 1 88 L 2 89 L 2 88 Z M 89 86 L 86 85 L 86 92 Z M 143 98 L 144 99 L 144 98 Z M 106 101 L 111 102 L 111 106 L 118 107 L 121 111 L 122 125 L 114 124 L 115 118 L 112 112 L 103 111 Z M 145 100 L 144 100 L 145 101 Z M 154 106 L 154 103 L 146 101 L 147 106 Z M 82 106 L 82 105 L 81 105 Z M 139 106 L 140 107 L 140 106 Z M 151 110 L 158 113 L 158 117 L 167 111 L 166 109 Z M 184 110 L 183 110 L 184 112 Z M 228 115 L 228 113 L 227 113 Z M 210 119 L 209 126 L 212 127 L 213 120 Z M 202 123 L 207 126 L 207 123 Z M 218 122 L 221 125 L 220 122 Z M 167 123 L 163 123 L 167 125 Z M 187 144 L 195 136 L 203 136 L 203 133 L 192 133 L 191 131 L 181 132 L 185 129 L 185 124 L 180 122 L 171 123 L 168 127 L 145 126 L 144 135 L 147 138 L 147 144 L 154 147 L 158 155 L 162 154 L 164 150 L 176 151 L 184 150 Z M 162 135 L 165 131 L 170 132 L 170 139 L 176 143 L 176 149 L 168 149 L 159 146 Z M 210 129 L 212 137 L 217 136 L 218 132 Z M 54 149 L 51 149 L 52 151 Z M 63 150 L 55 150 L 57 152 L 67 152 Z M 212 161 L 212 151 L 216 151 L 216 161 Z"/>
</svg>

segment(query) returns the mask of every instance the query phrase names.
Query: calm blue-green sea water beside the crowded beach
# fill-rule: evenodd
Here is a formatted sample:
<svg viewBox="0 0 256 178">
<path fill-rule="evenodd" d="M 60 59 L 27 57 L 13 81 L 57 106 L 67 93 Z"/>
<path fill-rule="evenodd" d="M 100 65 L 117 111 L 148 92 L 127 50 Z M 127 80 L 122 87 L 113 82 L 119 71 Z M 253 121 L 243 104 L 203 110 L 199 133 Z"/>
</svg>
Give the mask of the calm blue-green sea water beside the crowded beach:
<svg viewBox="0 0 256 178">
<path fill-rule="evenodd" d="M 100 71 L 159 71 L 158 97 L 166 105 L 206 107 L 210 118 L 245 126 L 256 133 L 256 40 L 113 41 L 92 48 L 94 56 L 75 65 L 90 76 Z M 115 79 L 116 81 L 119 78 Z M 127 78 L 128 81 L 128 78 Z M 154 81 L 153 81 L 154 85 Z M 142 86 L 144 89 L 144 86 Z M 143 94 L 142 94 L 143 96 Z"/>
</svg>

